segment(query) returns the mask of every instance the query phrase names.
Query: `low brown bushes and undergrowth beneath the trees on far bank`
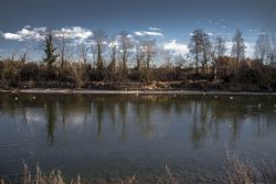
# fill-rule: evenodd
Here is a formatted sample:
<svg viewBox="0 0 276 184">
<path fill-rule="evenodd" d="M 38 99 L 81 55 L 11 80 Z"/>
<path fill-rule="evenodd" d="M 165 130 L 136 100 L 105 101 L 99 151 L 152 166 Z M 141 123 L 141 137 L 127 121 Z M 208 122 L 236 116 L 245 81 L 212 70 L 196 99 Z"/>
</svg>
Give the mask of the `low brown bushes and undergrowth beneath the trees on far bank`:
<svg viewBox="0 0 276 184">
<path fill-rule="evenodd" d="M 200 69 L 199 69 L 200 71 Z M 212 69 L 203 75 L 194 68 L 160 66 L 137 72 L 129 68 L 126 76 L 110 77 L 109 67 L 98 74 L 91 65 L 79 63 L 49 68 L 41 63 L 0 61 L 1 88 L 87 88 L 87 89 L 198 89 L 275 91 L 276 67 L 245 59 L 236 67 L 231 57 L 216 64 L 216 79 Z"/>
</svg>

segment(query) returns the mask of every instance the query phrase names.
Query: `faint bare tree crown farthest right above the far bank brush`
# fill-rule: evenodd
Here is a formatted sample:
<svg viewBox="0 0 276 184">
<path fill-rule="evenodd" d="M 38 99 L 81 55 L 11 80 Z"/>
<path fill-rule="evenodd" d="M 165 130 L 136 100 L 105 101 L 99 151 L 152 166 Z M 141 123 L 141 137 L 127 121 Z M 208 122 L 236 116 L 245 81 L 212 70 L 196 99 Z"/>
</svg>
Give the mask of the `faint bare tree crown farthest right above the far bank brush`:
<svg viewBox="0 0 276 184">
<path fill-rule="evenodd" d="M 255 45 L 255 57 L 263 64 L 268 64 L 269 55 L 272 53 L 272 44 L 269 35 L 262 33 L 258 35 Z"/>
</svg>

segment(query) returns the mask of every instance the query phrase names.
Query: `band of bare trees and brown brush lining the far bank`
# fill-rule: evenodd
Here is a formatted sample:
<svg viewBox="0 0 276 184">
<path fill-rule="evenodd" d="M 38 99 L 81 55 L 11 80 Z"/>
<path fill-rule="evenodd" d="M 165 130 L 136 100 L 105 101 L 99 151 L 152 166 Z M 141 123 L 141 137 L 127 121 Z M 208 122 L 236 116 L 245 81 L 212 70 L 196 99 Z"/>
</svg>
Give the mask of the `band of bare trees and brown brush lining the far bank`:
<svg viewBox="0 0 276 184">
<path fill-rule="evenodd" d="M 93 36 L 91 46 L 79 44 L 78 62 L 73 62 L 66 56 L 65 37 L 56 40 L 50 32 L 42 62 L 28 62 L 25 54 L 0 61 L 0 87 L 276 90 L 276 40 L 266 33 L 257 37 L 254 58 L 245 57 L 241 30 L 233 36 L 230 56 L 226 36 L 211 40 L 200 29 L 191 35 L 187 57 L 159 48 L 149 36 L 134 37 L 127 32 L 107 36 L 103 30 Z"/>
</svg>

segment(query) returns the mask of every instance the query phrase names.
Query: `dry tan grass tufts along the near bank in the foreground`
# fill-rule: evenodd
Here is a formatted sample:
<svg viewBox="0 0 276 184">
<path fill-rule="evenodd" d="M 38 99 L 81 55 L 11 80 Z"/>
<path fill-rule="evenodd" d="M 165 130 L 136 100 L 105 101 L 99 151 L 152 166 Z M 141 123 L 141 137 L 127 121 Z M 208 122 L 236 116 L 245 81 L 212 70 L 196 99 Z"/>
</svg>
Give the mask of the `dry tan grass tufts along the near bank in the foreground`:
<svg viewBox="0 0 276 184">
<path fill-rule="evenodd" d="M 229 184 L 276 184 L 276 170 L 272 163 L 267 164 L 262 161 L 259 167 L 255 167 L 252 162 L 244 161 L 238 158 L 237 154 L 226 155 L 225 163 L 225 182 Z M 166 164 L 166 177 L 161 182 L 162 184 L 179 184 L 169 166 Z M 49 174 L 43 173 L 40 166 L 36 166 L 34 175 L 31 174 L 28 166 L 24 164 L 24 170 L 20 184 L 82 184 L 81 177 L 72 178 L 70 182 L 65 182 L 62 172 L 60 170 L 53 170 Z M 136 184 L 136 174 L 124 180 L 119 180 L 116 184 Z M 157 181 L 156 183 L 160 183 Z M 0 184 L 10 184 L 10 182 L 0 180 Z"/>
</svg>

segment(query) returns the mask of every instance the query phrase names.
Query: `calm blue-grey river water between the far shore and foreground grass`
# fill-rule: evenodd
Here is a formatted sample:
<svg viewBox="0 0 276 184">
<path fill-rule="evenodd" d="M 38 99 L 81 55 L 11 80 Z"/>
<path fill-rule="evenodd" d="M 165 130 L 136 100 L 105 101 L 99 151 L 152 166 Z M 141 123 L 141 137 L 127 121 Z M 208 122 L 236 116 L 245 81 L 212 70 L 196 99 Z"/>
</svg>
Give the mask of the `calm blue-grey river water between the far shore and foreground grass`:
<svg viewBox="0 0 276 184">
<path fill-rule="evenodd" d="M 275 96 L 0 94 L 0 176 L 23 164 L 68 180 L 222 183 L 225 145 L 276 159 Z M 100 183 L 98 182 L 98 183 Z"/>
</svg>

